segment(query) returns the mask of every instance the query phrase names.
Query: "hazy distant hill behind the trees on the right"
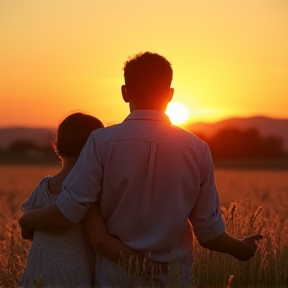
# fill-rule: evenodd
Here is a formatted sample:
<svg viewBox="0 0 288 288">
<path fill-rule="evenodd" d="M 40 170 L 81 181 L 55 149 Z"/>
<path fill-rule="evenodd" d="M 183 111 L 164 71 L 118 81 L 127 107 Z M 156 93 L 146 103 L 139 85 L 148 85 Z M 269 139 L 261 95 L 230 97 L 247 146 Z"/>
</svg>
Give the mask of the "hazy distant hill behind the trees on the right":
<svg viewBox="0 0 288 288">
<path fill-rule="evenodd" d="M 186 130 L 203 134 L 205 136 L 214 136 L 218 131 L 224 128 L 238 128 L 247 130 L 256 128 L 262 137 L 276 136 L 284 141 L 284 149 L 288 151 L 288 119 L 275 119 L 264 116 L 249 118 L 229 118 L 215 123 L 194 123 L 186 126 Z"/>
</svg>

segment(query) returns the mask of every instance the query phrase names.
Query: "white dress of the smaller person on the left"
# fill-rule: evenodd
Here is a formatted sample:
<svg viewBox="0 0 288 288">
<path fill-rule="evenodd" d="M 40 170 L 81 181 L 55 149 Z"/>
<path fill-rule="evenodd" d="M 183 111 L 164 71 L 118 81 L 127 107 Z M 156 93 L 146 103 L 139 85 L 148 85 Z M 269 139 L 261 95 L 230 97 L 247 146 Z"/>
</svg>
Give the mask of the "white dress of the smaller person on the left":
<svg viewBox="0 0 288 288">
<path fill-rule="evenodd" d="M 24 212 L 45 207 L 57 196 L 49 193 L 50 176 L 43 178 L 23 203 Z M 20 287 L 92 287 L 94 257 L 81 223 L 59 233 L 35 231 Z"/>
</svg>

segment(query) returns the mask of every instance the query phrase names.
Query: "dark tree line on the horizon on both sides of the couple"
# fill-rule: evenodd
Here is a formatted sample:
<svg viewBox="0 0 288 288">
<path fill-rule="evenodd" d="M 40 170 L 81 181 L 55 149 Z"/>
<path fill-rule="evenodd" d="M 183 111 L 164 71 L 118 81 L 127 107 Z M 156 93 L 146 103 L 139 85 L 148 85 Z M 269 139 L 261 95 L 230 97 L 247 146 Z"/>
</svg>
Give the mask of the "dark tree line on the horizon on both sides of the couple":
<svg viewBox="0 0 288 288">
<path fill-rule="evenodd" d="M 240 130 L 224 128 L 208 137 L 205 132 L 194 132 L 205 141 L 213 160 L 287 160 L 288 151 L 284 149 L 284 140 L 276 136 L 263 137 L 257 129 Z M 2 163 L 60 163 L 52 149 L 52 143 L 39 146 L 33 141 L 18 139 L 7 149 L 0 150 Z"/>
</svg>

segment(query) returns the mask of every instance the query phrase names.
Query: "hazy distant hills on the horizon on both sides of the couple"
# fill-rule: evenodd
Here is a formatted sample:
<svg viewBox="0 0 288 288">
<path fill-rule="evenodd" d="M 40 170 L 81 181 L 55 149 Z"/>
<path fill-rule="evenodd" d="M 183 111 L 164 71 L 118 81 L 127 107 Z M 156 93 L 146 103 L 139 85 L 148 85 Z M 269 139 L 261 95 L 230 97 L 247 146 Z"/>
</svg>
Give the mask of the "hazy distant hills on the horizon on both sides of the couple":
<svg viewBox="0 0 288 288">
<path fill-rule="evenodd" d="M 284 140 L 284 148 L 288 151 L 288 119 L 268 117 L 230 118 L 215 123 L 194 123 L 185 129 L 192 133 L 201 133 L 207 137 L 215 135 L 227 127 L 240 130 L 256 128 L 263 137 L 277 136 Z M 0 129 L 0 149 L 7 149 L 16 140 L 28 140 L 39 146 L 50 145 L 56 135 L 56 128 L 10 127 Z"/>
</svg>

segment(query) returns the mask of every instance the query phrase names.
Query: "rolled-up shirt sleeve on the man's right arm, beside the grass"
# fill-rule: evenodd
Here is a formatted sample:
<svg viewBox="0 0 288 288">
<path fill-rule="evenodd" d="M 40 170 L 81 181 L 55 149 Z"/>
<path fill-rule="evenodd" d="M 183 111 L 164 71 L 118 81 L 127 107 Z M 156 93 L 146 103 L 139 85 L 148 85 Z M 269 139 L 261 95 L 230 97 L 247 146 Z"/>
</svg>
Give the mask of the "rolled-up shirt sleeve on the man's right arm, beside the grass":
<svg viewBox="0 0 288 288">
<path fill-rule="evenodd" d="M 200 193 L 190 214 L 190 221 L 199 242 L 208 242 L 225 232 L 219 207 L 213 161 L 209 147 L 203 155 Z"/>
</svg>

